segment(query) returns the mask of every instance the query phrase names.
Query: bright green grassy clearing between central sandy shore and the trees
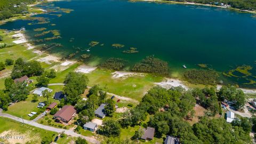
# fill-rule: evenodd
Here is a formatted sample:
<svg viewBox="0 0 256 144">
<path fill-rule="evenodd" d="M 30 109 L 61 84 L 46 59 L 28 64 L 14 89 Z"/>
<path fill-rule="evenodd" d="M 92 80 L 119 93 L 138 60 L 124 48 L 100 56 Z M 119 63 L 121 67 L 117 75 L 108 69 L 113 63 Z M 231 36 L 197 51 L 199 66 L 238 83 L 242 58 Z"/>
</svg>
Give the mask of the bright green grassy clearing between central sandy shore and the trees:
<svg viewBox="0 0 256 144">
<path fill-rule="evenodd" d="M 127 78 L 112 78 L 113 71 L 97 69 L 88 76 L 89 85 L 99 84 L 103 90 L 140 100 L 143 95 L 154 86 L 154 83 L 161 82 L 162 77 L 147 74 L 145 76 L 130 76 Z"/>
</svg>

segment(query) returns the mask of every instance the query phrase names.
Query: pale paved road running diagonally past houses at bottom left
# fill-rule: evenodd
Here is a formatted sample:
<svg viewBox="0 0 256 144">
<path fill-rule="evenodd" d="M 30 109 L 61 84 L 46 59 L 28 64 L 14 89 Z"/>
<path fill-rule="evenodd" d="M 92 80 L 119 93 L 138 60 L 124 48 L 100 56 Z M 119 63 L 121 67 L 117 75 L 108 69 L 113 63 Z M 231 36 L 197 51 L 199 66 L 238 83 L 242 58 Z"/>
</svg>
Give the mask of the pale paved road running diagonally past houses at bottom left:
<svg viewBox="0 0 256 144">
<path fill-rule="evenodd" d="M 14 121 L 18 121 L 20 123 L 25 123 L 25 124 L 28 124 L 28 125 L 32 125 L 32 126 L 44 129 L 44 130 L 49 130 L 49 131 L 58 132 L 58 133 L 61 133 L 61 132 L 64 131 L 64 133 L 67 134 L 67 135 L 71 135 L 72 137 L 82 137 L 82 138 L 84 138 L 85 140 L 87 140 L 91 143 L 97 143 L 97 144 L 100 143 L 97 139 L 94 139 L 92 137 L 85 137 L 85 136 L 83 136 L 81 134 L 78 134 L 76 132 L 73 132 L 71 130 L 58 129 L 58 128 L 55 128 L 55 127 L 52 127 L 52 126 L 38 124 L 38 123 L 33 122 L 33 121 L 28 121 L 26 119 L 22 119 L 22 118 L 13 116 L 13 115 L 2 113 L 2 109 L 0 109 L 0 116 L 7 117 L 7 118 L 10 118 L 10 119 L 13 119 Z"/>
</svg>

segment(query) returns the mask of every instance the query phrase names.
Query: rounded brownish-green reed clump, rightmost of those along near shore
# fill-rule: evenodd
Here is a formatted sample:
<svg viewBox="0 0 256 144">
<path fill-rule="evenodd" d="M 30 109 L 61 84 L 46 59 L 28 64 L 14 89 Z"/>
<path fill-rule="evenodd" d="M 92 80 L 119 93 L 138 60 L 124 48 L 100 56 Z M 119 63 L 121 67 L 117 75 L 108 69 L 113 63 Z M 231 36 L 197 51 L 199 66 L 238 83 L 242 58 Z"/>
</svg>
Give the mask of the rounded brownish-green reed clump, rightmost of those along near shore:
<svg viewBox="0 0 256 144">
<path fill-rule="evenodd" d="M 188 82 L 193 84 L 215 85 L 219 77 L 214 70 L 191 69 L 184 73 Z"/>
</svg>

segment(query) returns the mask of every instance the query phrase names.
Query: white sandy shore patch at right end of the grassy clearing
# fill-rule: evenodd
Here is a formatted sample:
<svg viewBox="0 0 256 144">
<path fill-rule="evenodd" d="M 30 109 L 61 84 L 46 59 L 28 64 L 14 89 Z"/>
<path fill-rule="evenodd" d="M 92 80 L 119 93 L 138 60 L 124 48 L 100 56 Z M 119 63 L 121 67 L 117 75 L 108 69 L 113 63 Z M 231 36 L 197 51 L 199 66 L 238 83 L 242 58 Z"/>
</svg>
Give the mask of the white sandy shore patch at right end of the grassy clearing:
<svg viewBox="0 0 256 144">
<path fill-rule="evenodd" d="M 165 89 L 170 89 L 171 87 L 177 87 L 177 86 L 181 86 L 183 87 L 183 89 L 188 90 L 188 87 L 183 84 L 182 81 L 180 81 L 179 79 L 174 79 L 174 78 L 165 78 L 164 81 L 160 82 L 160 83 L 155 83 L 156 85 L 159 85 L 161 87 L 164 87 Z"/>
</svg>

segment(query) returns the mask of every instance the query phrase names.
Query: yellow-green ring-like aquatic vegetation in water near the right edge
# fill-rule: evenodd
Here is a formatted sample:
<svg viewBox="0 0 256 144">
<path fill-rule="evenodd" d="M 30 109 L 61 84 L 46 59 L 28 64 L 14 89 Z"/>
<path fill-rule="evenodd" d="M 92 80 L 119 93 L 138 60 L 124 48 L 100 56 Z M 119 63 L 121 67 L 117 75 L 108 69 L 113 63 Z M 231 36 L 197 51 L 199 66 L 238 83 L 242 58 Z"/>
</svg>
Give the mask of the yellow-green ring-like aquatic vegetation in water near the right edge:
<svg viewBox="0 0 256 144">
<path fill-rule="evenodd" d="M 229 70 L 227 73 L 223 72 L 222 74 L 227 77 L 247 77 L 251 76 L 252 73 L 249 72 L 252 67 L 248 65 L 238 66 L 235 69 Z"/>
</svg>

